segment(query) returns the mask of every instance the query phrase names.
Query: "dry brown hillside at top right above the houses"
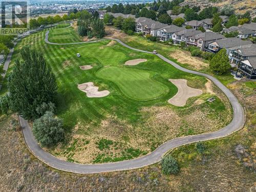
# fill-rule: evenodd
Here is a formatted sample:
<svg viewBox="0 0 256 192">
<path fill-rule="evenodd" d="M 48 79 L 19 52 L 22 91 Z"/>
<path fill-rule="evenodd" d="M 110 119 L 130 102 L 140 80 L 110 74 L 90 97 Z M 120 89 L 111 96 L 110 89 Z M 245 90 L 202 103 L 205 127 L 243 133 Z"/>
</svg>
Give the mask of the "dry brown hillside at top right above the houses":
<svg viewBox="0 0 256 192">
<path fill-rule="evenodd" d="M 224 5 L 232 5 L 238 14 L 251 11 L 251 16 L 256 16 L 256 0 L 185 0 L 180 5 L 200 6 L 201 9 L 209 6 L 222 8 Z"/>
</svg>

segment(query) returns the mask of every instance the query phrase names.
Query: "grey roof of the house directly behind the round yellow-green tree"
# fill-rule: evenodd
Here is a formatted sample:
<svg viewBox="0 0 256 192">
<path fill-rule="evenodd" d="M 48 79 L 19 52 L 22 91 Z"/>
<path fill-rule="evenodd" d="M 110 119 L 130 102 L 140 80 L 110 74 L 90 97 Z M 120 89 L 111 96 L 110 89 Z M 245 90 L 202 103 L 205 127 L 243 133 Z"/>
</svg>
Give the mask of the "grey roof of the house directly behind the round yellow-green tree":
<svg viewBox="0 0 256 192">
<path fill-rule="evenodd" d="M 212 42 L 211 44 L 214 44 L 220 48 L 230 48 L 230 47 L 249 45 L 249 44 L 252 44 L 252 42 L 250 40 L 242 40 L 237 37 L 230 37 L 230 38 L 218 39 Z"/>
</svg>

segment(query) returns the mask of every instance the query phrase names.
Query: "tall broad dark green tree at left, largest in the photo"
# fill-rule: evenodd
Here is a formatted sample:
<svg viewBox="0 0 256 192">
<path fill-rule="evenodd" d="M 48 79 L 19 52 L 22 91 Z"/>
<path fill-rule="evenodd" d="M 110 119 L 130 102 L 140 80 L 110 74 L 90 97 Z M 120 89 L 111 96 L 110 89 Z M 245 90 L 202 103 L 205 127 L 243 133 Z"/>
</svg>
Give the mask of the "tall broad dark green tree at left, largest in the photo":
<svg viewBox="0 0 256 192">
<path fill-rule="evenodd" d="M 53 102 L 57 83 L 40 52 L 24 47 L 20 53 L 23 60 L 16 59 L 8 78 L 11 110 L 25 119 L 36 119 L 37 106 Z"/>
</svg>

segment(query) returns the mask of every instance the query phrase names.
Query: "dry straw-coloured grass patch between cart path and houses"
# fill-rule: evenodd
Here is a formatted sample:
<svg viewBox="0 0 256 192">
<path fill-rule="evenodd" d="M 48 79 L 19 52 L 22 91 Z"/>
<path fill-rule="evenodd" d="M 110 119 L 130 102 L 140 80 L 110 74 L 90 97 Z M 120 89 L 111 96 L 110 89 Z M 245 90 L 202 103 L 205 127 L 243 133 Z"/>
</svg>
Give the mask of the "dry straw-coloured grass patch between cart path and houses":
<svg viewBox="0 0 256 192">
<path fill-rule="evenodd" d="M 198 57 L 193 57 L 188 51 L 174 50 L 170 52 L 170 57 L 177 59 L 178 62 L 188 64 L 195 69 L 204 69 L 208 64 Z"/>
</svg>

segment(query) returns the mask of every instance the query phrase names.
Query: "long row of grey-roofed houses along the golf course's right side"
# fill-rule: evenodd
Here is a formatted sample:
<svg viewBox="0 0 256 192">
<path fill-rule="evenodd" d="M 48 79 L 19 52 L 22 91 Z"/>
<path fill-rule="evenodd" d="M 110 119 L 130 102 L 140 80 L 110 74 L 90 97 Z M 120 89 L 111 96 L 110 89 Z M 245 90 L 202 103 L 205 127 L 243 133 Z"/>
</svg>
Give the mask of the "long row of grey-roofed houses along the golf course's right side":
<svg viewBox="0 0 256 192">
<path fill-rule="evenodd" d="M 100 17 L 104 16 L 105 12 L 100 13 Z M 122 13 L 109 13 L 114 17 L 122 16 L 124 18 L 135 15 Z M 228 17 L 221 16 L 223 24 L 228 21 Z M 249 79 L 256 79 L 256 45 L 250 40 L 242 40 L 248 36 L 256 35 L 256 23 L 244 24 L 241 27 L 230 27 L 223 30 L 223 33 L 238 31 L 239 37 L 225 38 L 220 33 L 214 33 L 207 30 L 212 27 L 211 19 L 191 20 L 185 22 L 182 27 L 176 25 L 167 25 L 157 22 L 150 18 L 139 17 L 135 18 L 136 32 L 144 35 L 150 34 L 158 37 L 161 41 L 173 40 L 174 44 L 185 42 L 186 46 L 196 46 L 201 51 L 217 53 L 221 49 L 227 50 L 230 63 L 238 67 L 238 72 L 242 73 Z M 186 29 L 186 26 L 191 26 L 191 29 Z M 197 30 L 200 26 L 205 28 L 206 32 Z"/>
</svg>

